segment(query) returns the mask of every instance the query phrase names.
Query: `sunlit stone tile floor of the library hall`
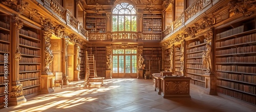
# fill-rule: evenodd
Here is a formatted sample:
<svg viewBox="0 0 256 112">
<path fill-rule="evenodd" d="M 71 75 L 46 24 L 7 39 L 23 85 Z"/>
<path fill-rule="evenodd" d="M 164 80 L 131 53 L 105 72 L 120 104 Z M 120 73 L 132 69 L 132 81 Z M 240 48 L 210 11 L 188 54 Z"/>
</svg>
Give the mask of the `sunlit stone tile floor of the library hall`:
<svg viewBox="0 0 256 112">
<path fill-rule="evenodd" d="M 252 105 L 234 98 L 204 93 L 201 87 L 190 85 L 191 98 L 164 99 L 154 91 L 152 80 L 104 79 L 104 85 L 94 83 L 84 87 L 83 81 L 70 82 L 54 93 L 40 94 L 24 104 L 0 111 L 256 111 Z"/>
</svg>

